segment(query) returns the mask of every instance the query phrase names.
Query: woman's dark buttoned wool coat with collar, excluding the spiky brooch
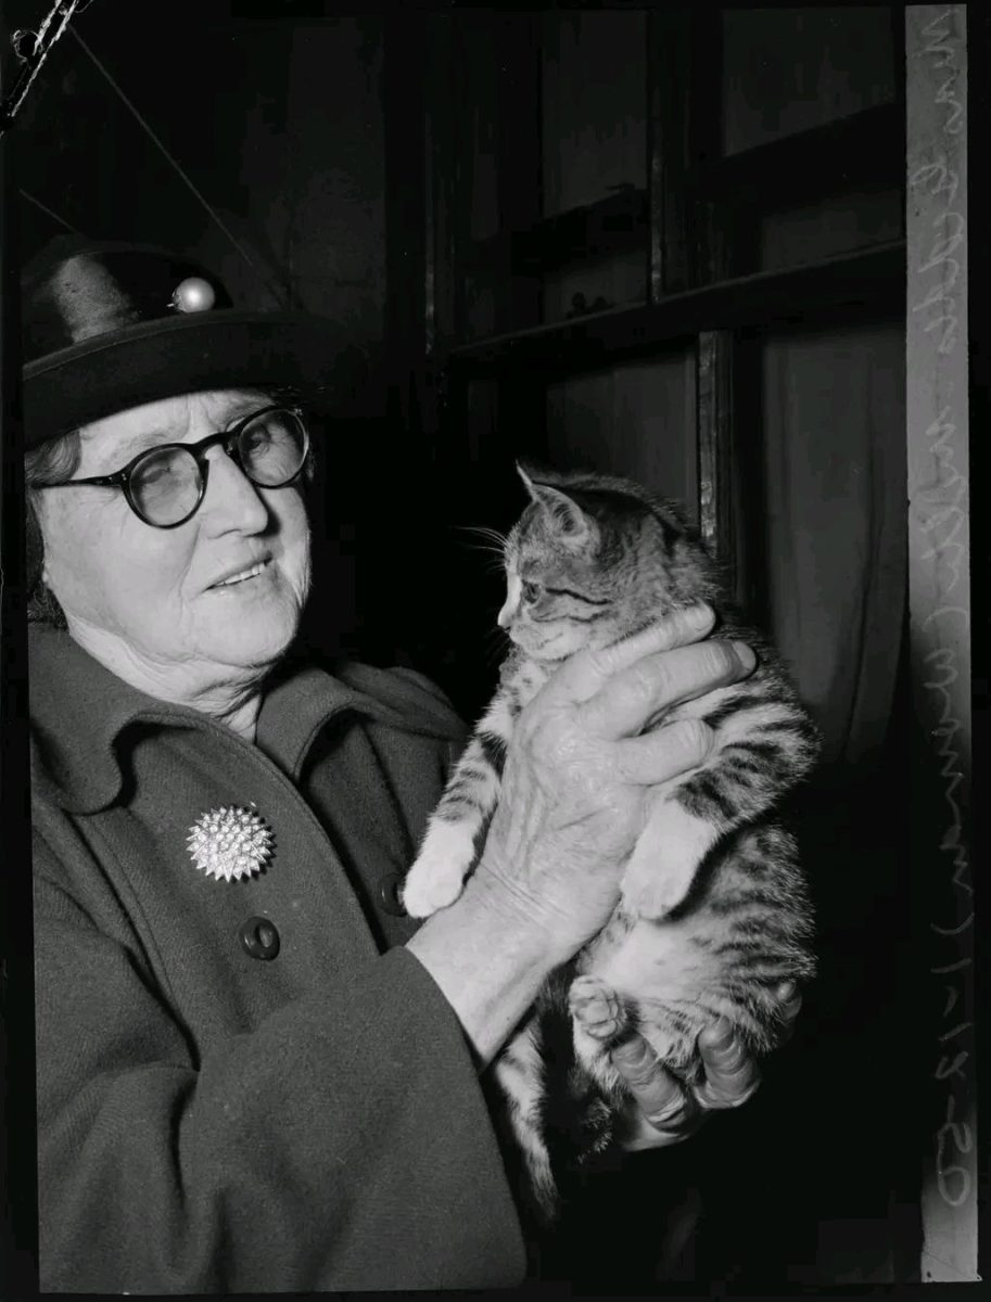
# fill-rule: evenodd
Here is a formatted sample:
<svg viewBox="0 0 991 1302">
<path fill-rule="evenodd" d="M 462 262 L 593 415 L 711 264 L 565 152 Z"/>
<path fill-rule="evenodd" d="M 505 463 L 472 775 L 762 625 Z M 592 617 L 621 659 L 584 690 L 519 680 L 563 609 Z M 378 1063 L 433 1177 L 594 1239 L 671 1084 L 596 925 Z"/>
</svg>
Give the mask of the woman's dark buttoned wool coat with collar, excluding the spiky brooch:
<svg viewBox="0 0 991 1302">
<path fill-rule="evenodd" d="M 251 746 L 52 629 L 30 668 L 42 1289 L 520 1281 L 475 1068 L 395 906 L 462 740 L 443 698 L 297 669 Z M 273 832 L 251 880 L 189 855 L 223 806 Z"/>
</svg>

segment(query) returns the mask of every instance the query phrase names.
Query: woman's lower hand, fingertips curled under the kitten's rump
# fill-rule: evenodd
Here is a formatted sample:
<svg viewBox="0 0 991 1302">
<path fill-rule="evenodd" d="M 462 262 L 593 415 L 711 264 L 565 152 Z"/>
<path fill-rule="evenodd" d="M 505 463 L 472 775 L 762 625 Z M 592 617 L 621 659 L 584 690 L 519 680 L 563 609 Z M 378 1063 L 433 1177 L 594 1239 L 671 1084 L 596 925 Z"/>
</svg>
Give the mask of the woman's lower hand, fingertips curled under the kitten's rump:
<svg viewBox="0 0 991 1302">
<path fill-rule="evenodd" d="M 792 982 L 779 987 L 784 1043 L 802 1006 L 802 996 Z M 693 1135 L 712 1112 L 738 1108 L 757 1091 L 761 1069 L 725 1021 L 706 1027 L 698 1038 L 706 1069 L 703 1083 L 685 1090 L 660 1065 L 650 1044 L 638 1032 L 630 1034 L 612 1051 L 612 1064 L 626 1082 L 633 1105 L 626 1115 L 621 1147 L 664 1148 Z"/>
</svg>

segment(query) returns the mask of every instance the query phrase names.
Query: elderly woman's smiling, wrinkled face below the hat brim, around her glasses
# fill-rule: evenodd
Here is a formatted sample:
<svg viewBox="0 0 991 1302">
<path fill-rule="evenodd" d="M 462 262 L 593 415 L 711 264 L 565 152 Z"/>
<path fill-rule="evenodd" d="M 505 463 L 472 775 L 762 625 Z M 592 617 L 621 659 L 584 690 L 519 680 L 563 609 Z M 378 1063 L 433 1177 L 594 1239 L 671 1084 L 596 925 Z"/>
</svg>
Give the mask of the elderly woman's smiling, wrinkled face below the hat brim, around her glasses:
<svg viewBox="0 0 991 1302">
<path fill-rule="evenodd" d="M 155 444 L 195 443 L 267 402 L 250 391 L 189 393 L 96 421 L 81 431 L 73 478 L 120 470 Z M 176 529 L 152 529 L 120 490 L 96 486 L 42 492 L 38 512 L 44 578 L 73 637 L 128 681 L 191 704 L 279 659 L 310 583 L 298 487 L 257 488 L 223 448 L 207 456 L 203 501 Z"/>
</svg>

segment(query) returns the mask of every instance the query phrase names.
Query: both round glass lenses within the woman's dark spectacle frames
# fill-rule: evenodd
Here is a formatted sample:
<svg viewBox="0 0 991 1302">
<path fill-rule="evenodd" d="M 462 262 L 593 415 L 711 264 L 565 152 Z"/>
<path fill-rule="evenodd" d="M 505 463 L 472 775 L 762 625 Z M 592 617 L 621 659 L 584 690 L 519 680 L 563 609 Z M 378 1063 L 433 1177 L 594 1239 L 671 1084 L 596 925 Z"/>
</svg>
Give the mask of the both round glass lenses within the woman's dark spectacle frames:
<svg viewBox="0 0 991 1302">
<path fill-rule="evenodd" d="M 289 483 L 305 458 L 306 430 L 293 411 L 263 411 L 238 435 L 236 460 L 259 487 Z M 134 505 L 152 525 L 177 525 L 190 516 L 201 488 L 199 465 L 185 448 L 151 448 L 130 474 Z"/>
</svg>

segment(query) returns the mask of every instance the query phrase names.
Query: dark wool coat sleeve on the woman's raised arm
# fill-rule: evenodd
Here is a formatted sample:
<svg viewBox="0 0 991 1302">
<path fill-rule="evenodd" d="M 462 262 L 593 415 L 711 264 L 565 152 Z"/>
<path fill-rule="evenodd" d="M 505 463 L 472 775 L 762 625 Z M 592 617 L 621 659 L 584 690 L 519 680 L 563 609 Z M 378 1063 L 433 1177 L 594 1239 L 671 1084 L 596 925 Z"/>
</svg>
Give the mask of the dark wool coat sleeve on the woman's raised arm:
<svg viewBox="0 0 991 1302">
<path fill-rule="evenodd" d="M 195 1060 L 35 846 L 43 1292 L 487 1288 L 525 1262 L 460 1025 L 405 949 Z"/>
</svg>

